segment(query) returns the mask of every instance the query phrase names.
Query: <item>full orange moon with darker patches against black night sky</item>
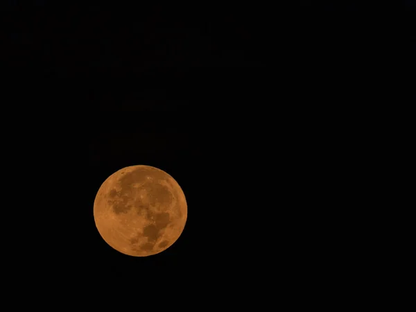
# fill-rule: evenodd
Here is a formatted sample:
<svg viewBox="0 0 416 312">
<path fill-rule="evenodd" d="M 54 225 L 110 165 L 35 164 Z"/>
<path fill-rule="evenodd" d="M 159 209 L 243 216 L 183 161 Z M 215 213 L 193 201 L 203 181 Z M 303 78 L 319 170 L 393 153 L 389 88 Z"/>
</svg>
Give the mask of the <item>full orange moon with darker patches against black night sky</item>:
<svg viewBox="0 0 416 312">
<path fill-rule="evenodd" d="M 182 234 L 187 200 L 168 173 L 129 166 L 103 182 L 94 200 L 94 220 L 104 241 L 134 257 L 158 254 Z"/>
</svg>

